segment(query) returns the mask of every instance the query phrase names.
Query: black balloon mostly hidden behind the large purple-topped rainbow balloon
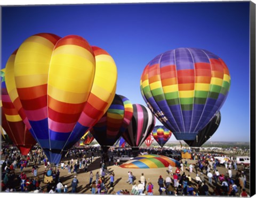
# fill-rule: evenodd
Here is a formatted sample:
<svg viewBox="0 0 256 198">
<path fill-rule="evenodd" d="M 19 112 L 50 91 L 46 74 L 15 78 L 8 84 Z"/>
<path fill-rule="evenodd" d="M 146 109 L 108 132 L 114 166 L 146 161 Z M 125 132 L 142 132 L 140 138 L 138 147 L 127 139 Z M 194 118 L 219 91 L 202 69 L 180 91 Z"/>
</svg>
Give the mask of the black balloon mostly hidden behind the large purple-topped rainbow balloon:
<svg viewBox="0 0 256 198">
<path fill-rule="evenodd" d="M 201 131 L 199 131 L 196 136 L 196 140 L 185 140 L 185 142 L 189 145 L 189 147 L 201 147 L 217 131 L 220 125 L 220 120 L 221 114 L 220 111 L 218 111 L 211 121 Z"/>
</svg>

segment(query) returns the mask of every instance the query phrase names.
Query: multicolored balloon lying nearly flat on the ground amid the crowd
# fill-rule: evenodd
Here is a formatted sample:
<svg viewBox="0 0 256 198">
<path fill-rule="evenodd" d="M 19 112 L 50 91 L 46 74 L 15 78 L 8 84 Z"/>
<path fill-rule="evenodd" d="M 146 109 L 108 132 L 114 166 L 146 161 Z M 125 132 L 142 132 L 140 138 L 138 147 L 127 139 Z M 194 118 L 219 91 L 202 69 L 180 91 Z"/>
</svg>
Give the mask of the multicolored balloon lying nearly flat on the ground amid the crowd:
<svg viewBox="0 0 256 198">
<path fill-rule="evenodd" d="M 158 154 L 146 154 L 133 158 L 132 160 L 123 163 L 122 168 L 164 168 L 171 165 L 172 167 L 179 167 L 180 163 L 172 158 L 159 156 Z"/>
</svg>

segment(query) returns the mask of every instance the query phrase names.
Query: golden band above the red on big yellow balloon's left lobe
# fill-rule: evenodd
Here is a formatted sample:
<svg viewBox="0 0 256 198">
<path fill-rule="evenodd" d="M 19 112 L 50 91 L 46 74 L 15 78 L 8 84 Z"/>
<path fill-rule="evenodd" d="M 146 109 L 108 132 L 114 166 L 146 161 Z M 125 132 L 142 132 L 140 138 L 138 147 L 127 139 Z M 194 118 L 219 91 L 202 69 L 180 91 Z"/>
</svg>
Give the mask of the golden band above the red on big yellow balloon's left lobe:
<svg viewBox="0 0 256 198">
<path fill-rule="evenodd" d="M 28 80 L 29 78 L 29 80 Z M 38 74 L 31 76 L 15 76 L 17 88 L 36 87 L 47 84 L 48 74 Z"/>
</svg>

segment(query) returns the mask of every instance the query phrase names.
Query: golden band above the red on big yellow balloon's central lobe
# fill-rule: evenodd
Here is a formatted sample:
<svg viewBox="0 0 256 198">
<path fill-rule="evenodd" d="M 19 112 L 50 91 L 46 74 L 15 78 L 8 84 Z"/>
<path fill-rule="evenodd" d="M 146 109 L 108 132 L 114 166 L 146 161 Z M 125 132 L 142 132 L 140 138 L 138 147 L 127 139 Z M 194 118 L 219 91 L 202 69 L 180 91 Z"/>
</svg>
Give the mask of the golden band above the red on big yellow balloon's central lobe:
<svg viewBox="0 0 256 198">
<path fill-rule="evenodd" d="M 68 92 L 68 91 L 59 90 L 57 88 L 53 88 L 51 85 L 48 85 L 48 94 L 50 97 L 54 98 L 55 100 L 58 100 L 61 102 L 67 102 L 70 104 L 81 104 L 85 102 L 89 96 L 89 92 L 87 92 L 87 94 Z M 51 104 L 49 104 L 49 107 L 55 108 L 55 107 L 52 107 Z"/>
</svg>

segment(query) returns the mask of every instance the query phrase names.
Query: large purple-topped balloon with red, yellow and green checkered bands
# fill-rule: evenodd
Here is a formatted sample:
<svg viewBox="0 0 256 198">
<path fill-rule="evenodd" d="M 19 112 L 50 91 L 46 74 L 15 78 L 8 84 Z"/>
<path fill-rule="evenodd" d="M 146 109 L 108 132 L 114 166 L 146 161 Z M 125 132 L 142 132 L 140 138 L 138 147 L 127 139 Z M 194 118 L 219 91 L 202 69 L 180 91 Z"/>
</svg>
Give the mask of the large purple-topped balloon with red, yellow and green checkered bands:
<svg viewBox="0 0 256 198">
<path fill-rule="evenodd" d="M 156 56 L 140 81 L 143 99 L 177 140 L 195 140 L 225 102 L 228 67 L 210 51 L 178 48 Z"/>
</svg>

